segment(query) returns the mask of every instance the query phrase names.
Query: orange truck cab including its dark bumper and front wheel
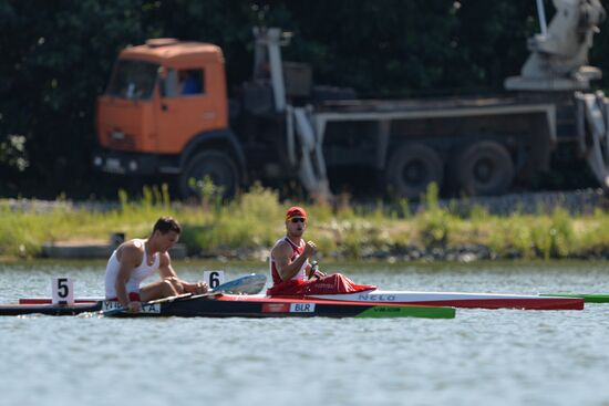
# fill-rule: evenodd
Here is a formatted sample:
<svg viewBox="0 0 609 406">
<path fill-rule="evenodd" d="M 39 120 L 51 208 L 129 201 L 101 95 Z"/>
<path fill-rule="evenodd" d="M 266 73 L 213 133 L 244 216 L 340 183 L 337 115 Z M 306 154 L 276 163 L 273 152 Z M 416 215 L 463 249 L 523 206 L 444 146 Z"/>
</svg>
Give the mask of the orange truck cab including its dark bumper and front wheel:
<svg viewBox="0 0 609 406">
<path fill-rule="evenodd" d="M 245 154 L 228 126 L 224 56 L 213 44 L 148 40 L 123 50 L 97 100 L 94 166 L 133 176 L 208 175 L 225 192 L 242 181 Z"/>
</svg>

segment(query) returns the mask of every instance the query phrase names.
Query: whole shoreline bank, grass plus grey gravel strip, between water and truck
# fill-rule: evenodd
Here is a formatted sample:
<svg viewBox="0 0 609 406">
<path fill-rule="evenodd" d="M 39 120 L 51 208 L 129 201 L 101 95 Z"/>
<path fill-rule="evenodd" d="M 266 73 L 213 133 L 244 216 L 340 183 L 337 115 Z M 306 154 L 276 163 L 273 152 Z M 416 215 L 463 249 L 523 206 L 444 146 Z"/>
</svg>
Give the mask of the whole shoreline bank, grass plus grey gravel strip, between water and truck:
<svg viewBox="0 0 609 406">
<path fill-rule="evenodd" d="M 95 242 L 112 249 L 116 235 L 145 238 L 158 217 L 173 216 L 183 225 L 179 242 L 186 257 L 262 261 L 285 233 L 285 208 L 301 204 L 310 214 L 304 239 L 316 241 L 323 260 L 609 259 L 608 199 L 596 189 L 440 200 L 431 187 L 417 204 L 402 199 L 332 207 L 280 201 L 276 191 L 262 187 L 230 201 L 205 197 L 198 205 L 147 196 L 130 201 L 120 194 L 121 201 L 112 206 L 0 199 L 0 258 L 41 258 L 44 246 Z M 508 214 L 494 214 L 506 208 Z"/>
</svg>

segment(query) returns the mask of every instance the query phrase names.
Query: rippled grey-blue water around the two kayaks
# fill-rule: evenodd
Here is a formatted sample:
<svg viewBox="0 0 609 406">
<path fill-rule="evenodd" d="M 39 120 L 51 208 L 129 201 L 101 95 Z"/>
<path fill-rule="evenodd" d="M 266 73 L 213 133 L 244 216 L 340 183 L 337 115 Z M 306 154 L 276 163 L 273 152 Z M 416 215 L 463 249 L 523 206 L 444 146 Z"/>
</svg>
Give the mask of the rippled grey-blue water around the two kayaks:
<svg viewBox="0 0 609 406">
<path fill-rule="evenodd" d="M 210 266 L 178 263 L 195 280 Z M 265 266 L 225 264 L 227 277 Z M 218 268 L 218 266 L 214 266 Z M 337 271 L 338 268 L 329 268 Z M 609 292 L 603 263 L 350 266 L 384 289 Z M 0 302 L 103 263 L 0 264 Z M 609 304 L 454 320 L 0 317 L 3 405 L 609 405 Z"/>
</svg>

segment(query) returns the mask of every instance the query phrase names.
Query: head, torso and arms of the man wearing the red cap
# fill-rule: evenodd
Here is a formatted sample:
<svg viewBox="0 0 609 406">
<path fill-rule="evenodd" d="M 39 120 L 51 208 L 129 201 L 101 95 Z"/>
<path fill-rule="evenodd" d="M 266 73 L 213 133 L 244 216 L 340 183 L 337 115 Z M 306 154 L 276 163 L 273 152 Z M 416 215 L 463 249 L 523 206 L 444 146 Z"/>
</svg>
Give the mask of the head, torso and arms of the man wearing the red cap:
<svg viewBox="0 0 609 406">
<path fill-rule="evenodd" d="M 270 251 L 270 271 L 273 285 L 291 279 L 304 280 L 311 278 L 314 272 L 323 275 L 322 272 L 311 271 L 309 258 L 317 251 L 313 241 L 302 239 L 307 230 L 307 211 L 295 206 L 286 214 L 286 237 L 278 240 Z M 313 273 L 312 273 L 313 272 Z"/>
</svg>

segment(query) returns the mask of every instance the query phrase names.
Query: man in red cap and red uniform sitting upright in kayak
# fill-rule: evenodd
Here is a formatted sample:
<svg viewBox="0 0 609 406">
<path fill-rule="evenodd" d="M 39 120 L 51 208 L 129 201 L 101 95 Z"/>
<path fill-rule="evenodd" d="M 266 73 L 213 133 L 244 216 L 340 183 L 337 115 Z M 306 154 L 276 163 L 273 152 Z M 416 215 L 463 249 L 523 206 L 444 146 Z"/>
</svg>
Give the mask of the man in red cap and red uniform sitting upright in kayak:
<svg viewBox="0 0 609 406">
<path fill-rule="evenodd" d="M 272 287 L 269 295 L 299 296 L 308 294 L 353 293 L 375 289 L 359 285 L 340 273 L 326 275 L 309 263 L 317 252 L 313 241 L 304 241 L 307 211 L 293 206 L 286 212 L 286 236 L 279 239 L 270 251 Z"/>
</svg>

